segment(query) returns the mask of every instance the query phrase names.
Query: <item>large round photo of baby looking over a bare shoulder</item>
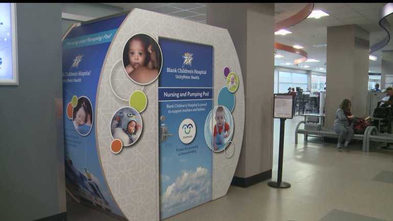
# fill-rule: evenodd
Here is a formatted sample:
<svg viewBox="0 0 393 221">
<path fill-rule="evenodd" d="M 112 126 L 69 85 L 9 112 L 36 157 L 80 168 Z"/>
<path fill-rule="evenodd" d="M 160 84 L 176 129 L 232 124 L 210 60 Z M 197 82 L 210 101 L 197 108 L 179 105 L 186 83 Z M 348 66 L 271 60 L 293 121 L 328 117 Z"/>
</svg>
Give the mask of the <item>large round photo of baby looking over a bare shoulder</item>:
<svg viewBox="0 0 393 221">
<path fill-rule="evenodd" d="M 131 81 L 139 85 L 151 84 L 161 73 L 161 47 L 149 34 L 134 34 L 123 47 L 122 63 Z"/>
</svg>

